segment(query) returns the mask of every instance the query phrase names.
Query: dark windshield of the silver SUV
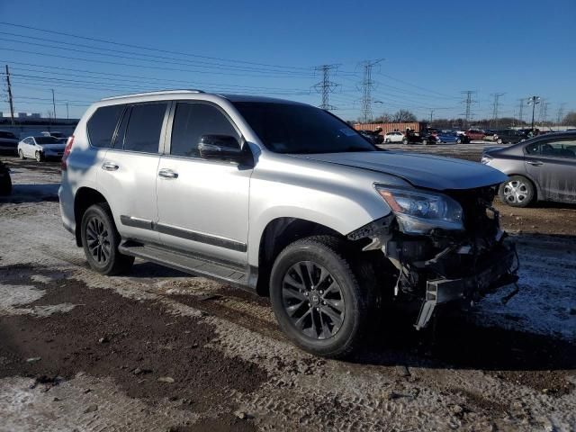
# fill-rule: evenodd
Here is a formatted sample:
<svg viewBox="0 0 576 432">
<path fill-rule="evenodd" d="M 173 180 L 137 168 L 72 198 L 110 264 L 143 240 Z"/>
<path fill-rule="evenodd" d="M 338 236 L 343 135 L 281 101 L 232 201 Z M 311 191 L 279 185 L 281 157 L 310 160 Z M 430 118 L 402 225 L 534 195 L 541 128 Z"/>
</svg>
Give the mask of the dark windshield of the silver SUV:
<svg viewBox="0 0 576 432">
<path fill-rule="evenodd" d="M 309 105 L 237 102 L 262 143 L 276 153 L 341 153 L 377 148 L 338 117 Z"/>
</svg>

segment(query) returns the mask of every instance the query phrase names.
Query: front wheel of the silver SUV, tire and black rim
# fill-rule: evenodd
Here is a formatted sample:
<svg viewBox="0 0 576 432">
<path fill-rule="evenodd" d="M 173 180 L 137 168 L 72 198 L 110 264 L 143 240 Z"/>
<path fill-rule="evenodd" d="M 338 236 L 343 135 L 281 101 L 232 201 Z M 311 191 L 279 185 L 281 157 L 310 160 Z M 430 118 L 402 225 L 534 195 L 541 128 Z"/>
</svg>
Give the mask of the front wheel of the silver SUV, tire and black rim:
<svg viewBox="0 0 576 432">
<path fill-rule="evenodd" d="M 297 240 L 272 268 L 276 320 L 288 338 L 315 356 L 342 358 L 355 351 L 373 308 L 369 297 L 335 237 Z"/>
</svg>

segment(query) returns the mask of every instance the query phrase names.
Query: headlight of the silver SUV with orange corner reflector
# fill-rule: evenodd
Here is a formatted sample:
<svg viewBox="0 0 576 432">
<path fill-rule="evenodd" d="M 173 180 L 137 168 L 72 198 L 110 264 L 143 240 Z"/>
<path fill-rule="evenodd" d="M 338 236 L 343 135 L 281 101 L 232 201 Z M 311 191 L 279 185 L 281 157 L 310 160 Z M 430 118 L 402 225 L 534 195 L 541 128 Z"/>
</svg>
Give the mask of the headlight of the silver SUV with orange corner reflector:
<svg viewBox="0 0 576 432">
<path fill-rule="evenodd" d="M 432 229 L 463 230 L 463 211 L 458 202 L 442 193 L 375 184 L 403 232 L 427 234 Z"/>
</svg>

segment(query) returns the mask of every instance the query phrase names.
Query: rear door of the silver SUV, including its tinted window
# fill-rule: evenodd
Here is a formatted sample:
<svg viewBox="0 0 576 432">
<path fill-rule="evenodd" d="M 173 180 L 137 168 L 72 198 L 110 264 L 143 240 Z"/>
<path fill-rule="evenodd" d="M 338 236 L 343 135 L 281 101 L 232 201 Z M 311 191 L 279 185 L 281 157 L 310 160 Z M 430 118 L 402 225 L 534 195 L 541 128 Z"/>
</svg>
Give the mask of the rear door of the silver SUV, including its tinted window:
<svg viewBox="0 0 576 432">
<path fill-rule="evenodd" d="M 106 192 L 122 238 L 158 242 L 156 178 L 169 103 L 126 107 L 103 159 L 98 183 Z"/>
</svg>

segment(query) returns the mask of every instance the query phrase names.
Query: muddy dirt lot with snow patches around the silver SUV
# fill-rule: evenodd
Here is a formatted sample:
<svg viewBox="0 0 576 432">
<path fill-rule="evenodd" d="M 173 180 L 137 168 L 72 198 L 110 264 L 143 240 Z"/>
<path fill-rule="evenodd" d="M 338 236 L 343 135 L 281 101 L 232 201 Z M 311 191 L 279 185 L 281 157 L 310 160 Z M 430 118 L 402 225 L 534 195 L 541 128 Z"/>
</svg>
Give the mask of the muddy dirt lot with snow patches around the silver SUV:
<svg viewBox="0 0 576 432">
<path fill-rule="evenodd" d="M 95 275 L 61 227 L 58 164 L 3 159 L 0 431 L 576 428 L 575 208 L 499 205 L 522 263 L 508 304 L 435 338 L 385 317 L 337 362 L 288 343 L 264 298 L 141 261 Z"/>
</svg>

